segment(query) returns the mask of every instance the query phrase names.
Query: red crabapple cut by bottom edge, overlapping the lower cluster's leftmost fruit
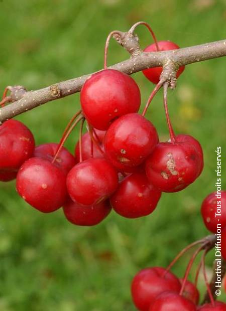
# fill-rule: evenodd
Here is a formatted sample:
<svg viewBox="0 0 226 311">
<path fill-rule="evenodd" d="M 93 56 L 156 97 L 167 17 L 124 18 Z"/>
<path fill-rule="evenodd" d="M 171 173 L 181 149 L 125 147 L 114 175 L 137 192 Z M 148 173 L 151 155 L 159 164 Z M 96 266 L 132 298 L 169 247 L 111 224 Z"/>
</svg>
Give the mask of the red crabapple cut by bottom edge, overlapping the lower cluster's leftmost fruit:
<svg viewBox="0 0 226 311">
<path fill-rule="evenodd" d="M 149 311 L 196 311 L 196 305 L 173 291 L 160 294 L 150 305 Z"/>
</svg>

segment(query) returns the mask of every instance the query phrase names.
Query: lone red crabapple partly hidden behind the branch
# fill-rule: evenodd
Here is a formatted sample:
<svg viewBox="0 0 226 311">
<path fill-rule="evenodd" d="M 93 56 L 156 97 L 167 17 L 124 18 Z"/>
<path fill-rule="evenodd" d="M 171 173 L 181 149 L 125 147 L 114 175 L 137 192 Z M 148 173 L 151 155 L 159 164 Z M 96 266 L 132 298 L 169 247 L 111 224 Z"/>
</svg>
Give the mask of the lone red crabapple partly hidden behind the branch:
<svg viewBox="0 0 226 311">
<path fill-rule="evenodd" d="M 178 45 L 171 41 L 159 41 L 158 42 L 160 51 L 168 51 L 168 50 L 175 50 L 179 49 Z M 144 49 L 144 52 L 157 52 L 156 45 L 151 44 L 147 48 Z M 182 74 L 184 71 L 185 66 L 179 67 L 177 71 L 177 78 Z M 159 82 L 160 75 L 162 73 L 162 67 L 154 67 L 143 70 L 143 74 L 150 80 L 152 83 L 157 84 Z"/>
</svg>

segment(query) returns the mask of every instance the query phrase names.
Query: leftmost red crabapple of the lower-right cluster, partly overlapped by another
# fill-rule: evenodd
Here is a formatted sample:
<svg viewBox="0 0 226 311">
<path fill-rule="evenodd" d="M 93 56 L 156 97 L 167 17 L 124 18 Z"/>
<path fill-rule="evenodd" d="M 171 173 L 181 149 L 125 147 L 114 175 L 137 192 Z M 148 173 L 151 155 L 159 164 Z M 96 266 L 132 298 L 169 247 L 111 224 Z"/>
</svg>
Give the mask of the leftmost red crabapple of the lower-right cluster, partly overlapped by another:
<svg viewBox="0 0 226 311">
<path fill-rule="evenodd" d="M 148 311 L 157 295 L 172 290 L 179 293 L 180 282 L 171 272 L 161 267 L 146 268 L 133 279 L 131 291 L 133 301 L 140 311 Z"/>
</svg>

